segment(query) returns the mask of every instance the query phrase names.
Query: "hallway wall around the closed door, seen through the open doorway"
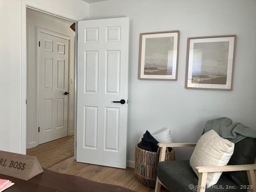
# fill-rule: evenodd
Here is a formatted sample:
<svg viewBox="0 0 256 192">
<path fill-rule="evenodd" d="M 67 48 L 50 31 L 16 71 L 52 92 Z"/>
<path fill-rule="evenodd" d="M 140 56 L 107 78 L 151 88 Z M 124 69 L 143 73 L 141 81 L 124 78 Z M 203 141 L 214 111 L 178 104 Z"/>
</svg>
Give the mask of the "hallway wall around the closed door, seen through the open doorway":
<svg viewBox="0 0 256 192">
<path fill-rule="evenodd" d="M 68 70 L 68 135 L 74 134 L 74 37 L 70 28 L 73 23 L 42 12 L 27 8 L 27 148 L 37 145 L 36 126 L 36 28 L 44 28 L 59 34 L 69 36 L 70 54 Z"/>
</svg>

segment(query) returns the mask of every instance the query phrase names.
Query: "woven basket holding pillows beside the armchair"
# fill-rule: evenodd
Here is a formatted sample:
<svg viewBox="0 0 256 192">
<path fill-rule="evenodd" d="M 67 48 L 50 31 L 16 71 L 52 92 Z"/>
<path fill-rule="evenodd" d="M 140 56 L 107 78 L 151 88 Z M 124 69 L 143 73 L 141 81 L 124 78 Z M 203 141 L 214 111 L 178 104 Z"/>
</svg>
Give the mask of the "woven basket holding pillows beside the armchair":
<svg viewBox="0 0 256 192">
<path fill-rule="evenodd" d="M 159 162 L 160 147 L 157 152 L 150 152 L 138 147 L 135 148 L 134 171 L 142 184 L 148 187 L 156 186 L 156 166 Z M 175 160 L 175 151 L 166 150 L 165 161 Z"/>
</svg>

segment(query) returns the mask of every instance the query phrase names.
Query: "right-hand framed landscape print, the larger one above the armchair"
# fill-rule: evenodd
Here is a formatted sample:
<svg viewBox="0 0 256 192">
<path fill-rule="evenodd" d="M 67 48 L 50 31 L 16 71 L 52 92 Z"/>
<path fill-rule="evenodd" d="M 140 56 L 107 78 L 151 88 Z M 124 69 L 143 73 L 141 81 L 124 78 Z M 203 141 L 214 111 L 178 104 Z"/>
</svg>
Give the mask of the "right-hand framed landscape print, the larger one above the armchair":
<svg viewBox="0 0 256 192">
<path fill-rule="evenodd" d="M 236 35 L 188 38 L 185 88 L 232 90 Z"/>
</svg>

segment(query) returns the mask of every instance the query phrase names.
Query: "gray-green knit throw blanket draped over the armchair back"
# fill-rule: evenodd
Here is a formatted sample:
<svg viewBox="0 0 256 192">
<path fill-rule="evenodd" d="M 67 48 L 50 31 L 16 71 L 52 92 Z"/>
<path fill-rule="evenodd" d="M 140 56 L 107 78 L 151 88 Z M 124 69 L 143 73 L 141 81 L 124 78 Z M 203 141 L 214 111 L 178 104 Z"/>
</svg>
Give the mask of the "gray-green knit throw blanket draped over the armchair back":
<svg viewBox="0 0 256 192">
<path fill-rule="evenodd" d="M 233 123 L 230 118 L 222 117 L 206 122 L 204 132 L 216 131 L 219 136 L 230 140 L 234 144 L 242 141 L 246 137 L 256 138 L 256 130 L 244 126 L 241 123 Z"/>
</svg>

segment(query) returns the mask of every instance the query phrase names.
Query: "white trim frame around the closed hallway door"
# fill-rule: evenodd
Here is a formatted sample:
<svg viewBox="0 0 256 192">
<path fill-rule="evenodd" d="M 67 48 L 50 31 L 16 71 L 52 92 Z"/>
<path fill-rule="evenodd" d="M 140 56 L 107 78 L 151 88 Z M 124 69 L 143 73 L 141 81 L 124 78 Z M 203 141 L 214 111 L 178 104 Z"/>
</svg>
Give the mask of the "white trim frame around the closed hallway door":
<svg viewBox="0 0 256 192">
<path fill-rule="evenodd" d="M 66 36 L 57 32 L 53 32 L 44 28 L 40 28 L 40 27 L 36 27 L 36 127 L 39 127 L 39 106 L 38 106 L 38 101 L 39 101 L 39 44 L 38 42 L 40 41 L 39 39 L 39 33 L 45 33 L 45 34 L 49 34 L 52 36 L 56 36 L 56 37 L 60 37 L 63 39 L 68 40 L 68 66 L 70 65 L 71 62 L 71 52 L 70 52 L 70 48 L 71 48 L 71 44 L 70 44 L 70 36 Z M 69 70 L 70 68 L 68 68 L 68 74 L 69 74 Z M 69 76 L 68 76 L 68 82 L 69 82 Z M 70 87 L 68 86 L 68 91 L 70 92 Z M 68 105 L 69 105 L 69 98 L 68 98 Z M 68 109 L 67 109 L 68 110 Z M 69 111 L 68 111 L 68 118 L 69 118 Z M 68 130 L 67 130 L 68 133 Z M 39 144 L 39 132 L 36 131 L 36 145 Z"/>
</svg>

